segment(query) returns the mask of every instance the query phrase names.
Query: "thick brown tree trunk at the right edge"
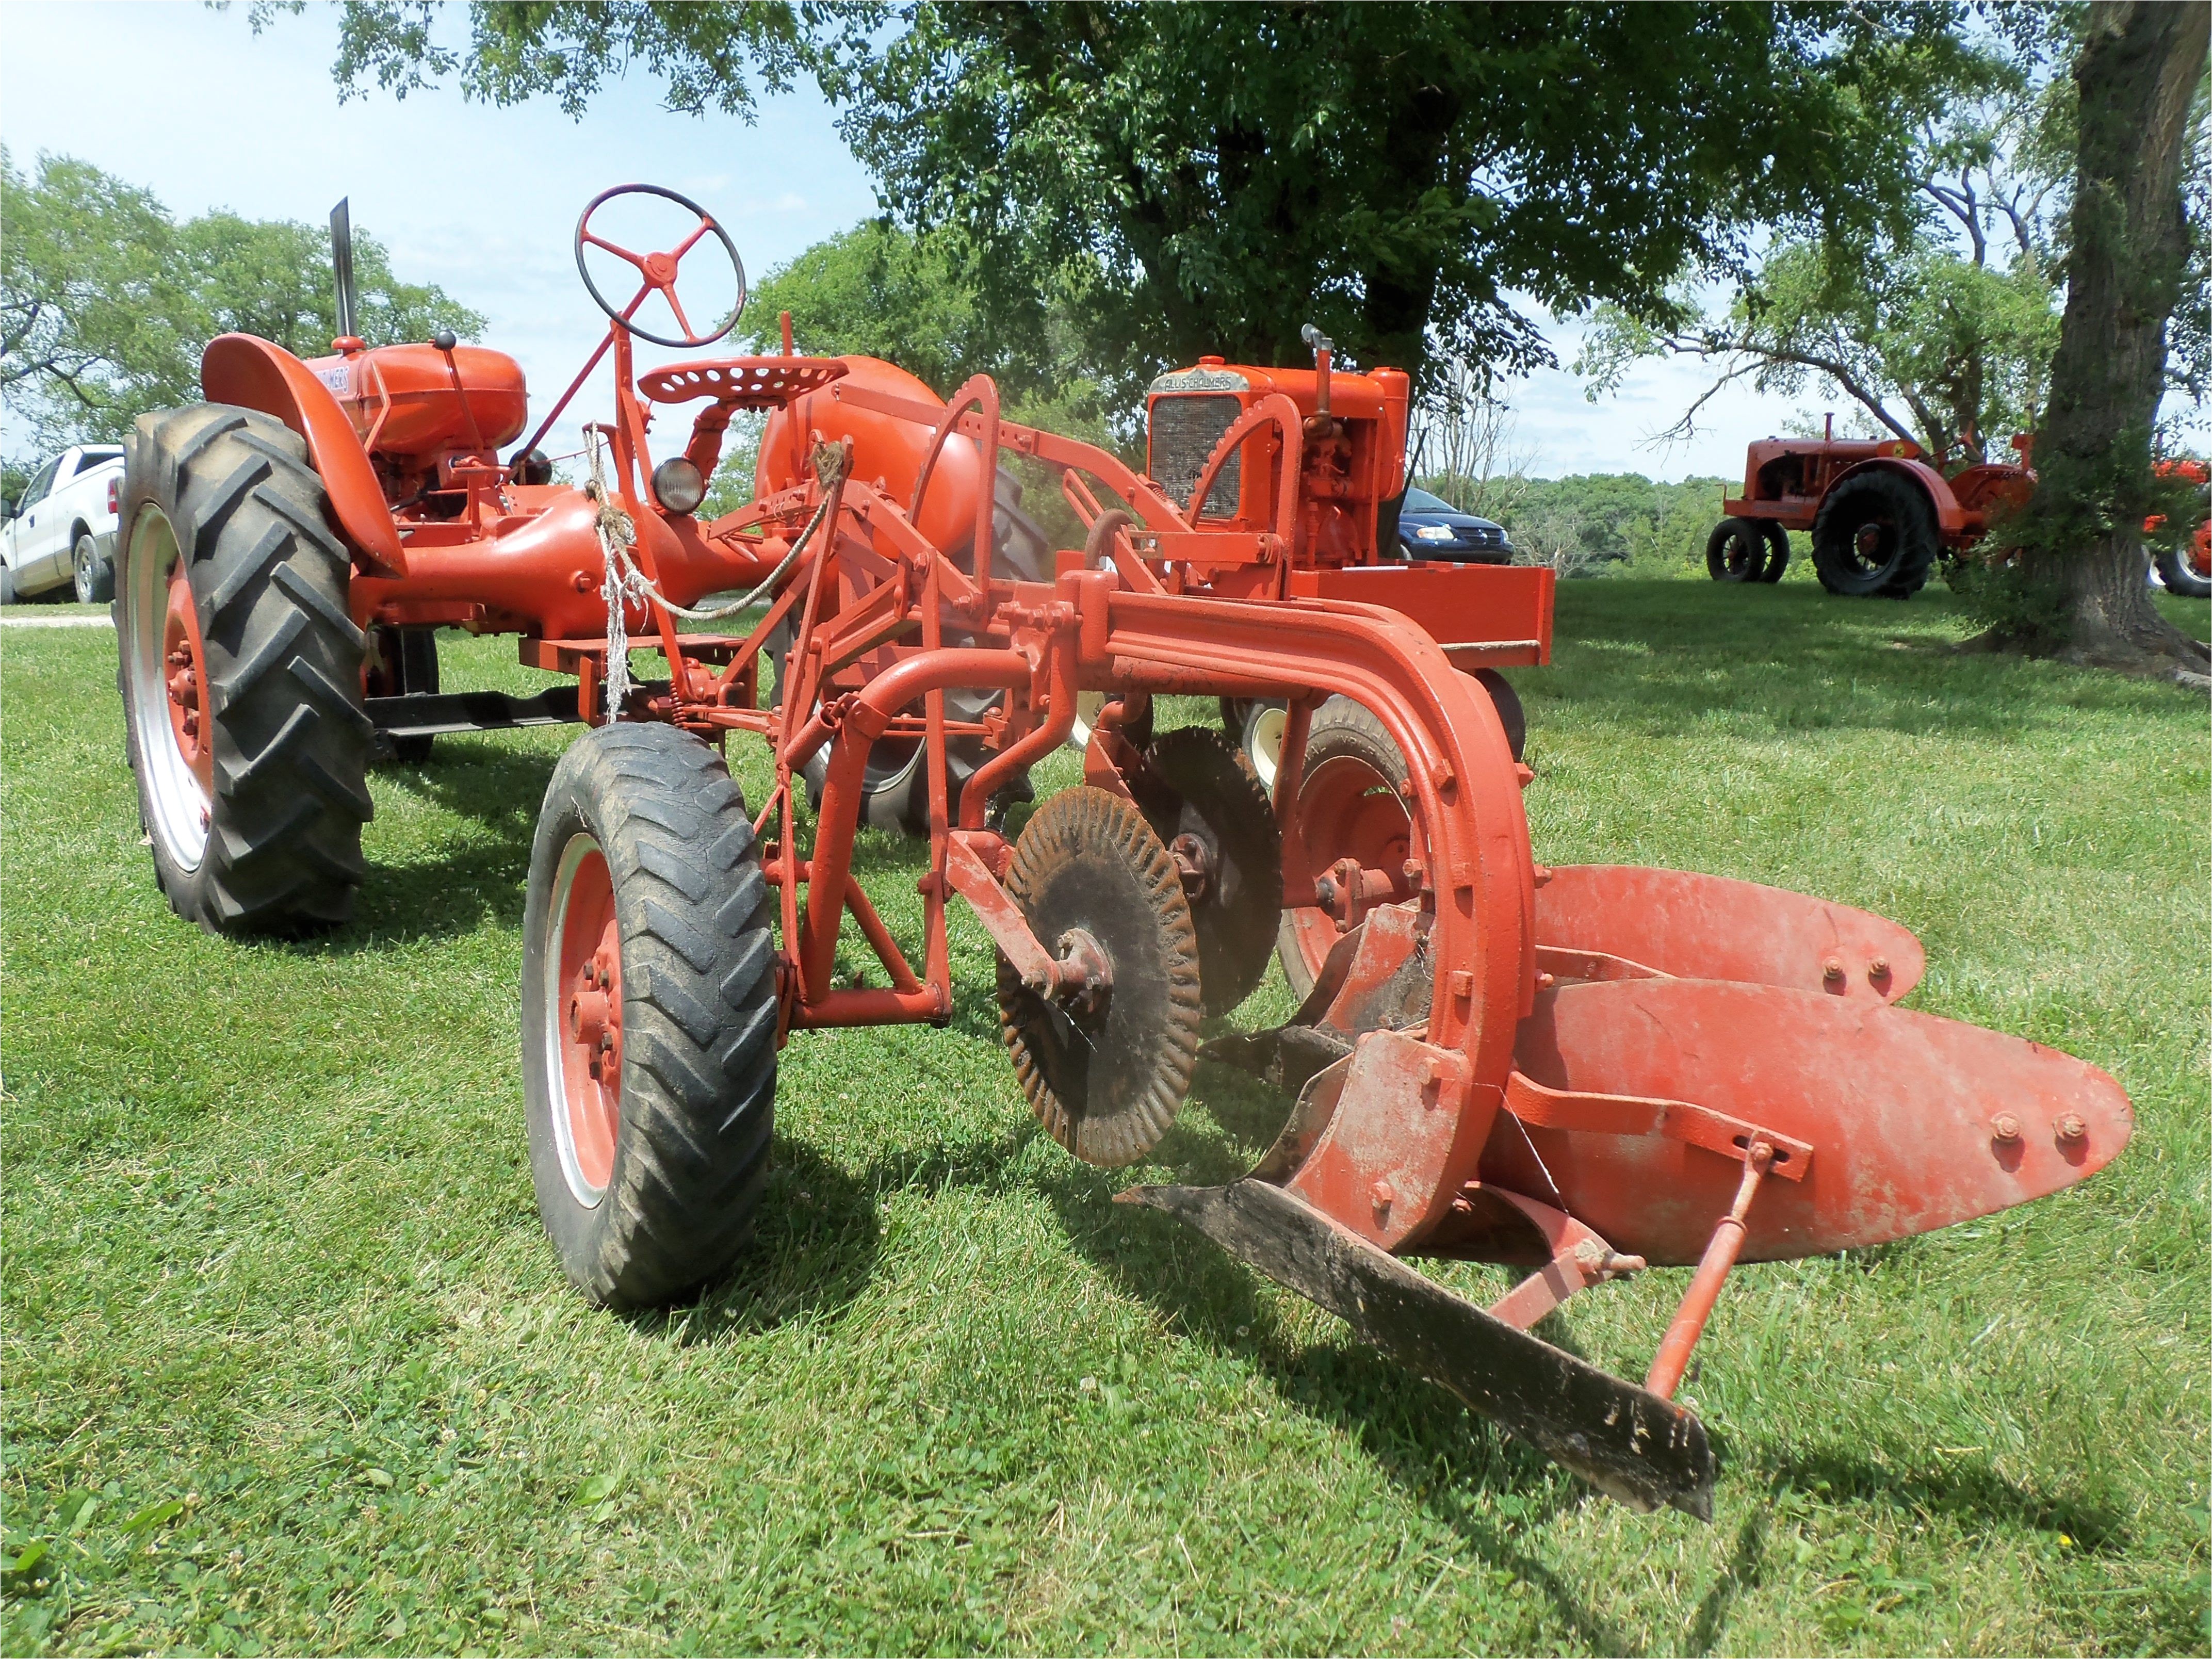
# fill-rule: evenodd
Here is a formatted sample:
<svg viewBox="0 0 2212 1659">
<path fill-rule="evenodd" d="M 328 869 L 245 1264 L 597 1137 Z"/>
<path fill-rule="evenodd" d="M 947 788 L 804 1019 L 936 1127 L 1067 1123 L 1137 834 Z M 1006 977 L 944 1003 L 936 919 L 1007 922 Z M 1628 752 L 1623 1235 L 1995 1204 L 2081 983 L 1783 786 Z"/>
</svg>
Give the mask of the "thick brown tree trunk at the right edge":
<svg viewBox="0 0 2212 1659">
<path fill-rule="evenodd" d="M 2064 646 L 2115 668 L 2205 670 L 2205 648 L 2150 602 L 2141 531 L 2166 321 L 2188 259 L 2181 148 L 2208 24 L 2203 4 L 2095 0 L 2088 11 L 2075 60 L 2066 316 L 2035 436 L 2039 482 L 2020 526 L 2020 577 L 2051 595 L 2055 624 L 2017 630 L 2015 646 Z"/>
</svg>

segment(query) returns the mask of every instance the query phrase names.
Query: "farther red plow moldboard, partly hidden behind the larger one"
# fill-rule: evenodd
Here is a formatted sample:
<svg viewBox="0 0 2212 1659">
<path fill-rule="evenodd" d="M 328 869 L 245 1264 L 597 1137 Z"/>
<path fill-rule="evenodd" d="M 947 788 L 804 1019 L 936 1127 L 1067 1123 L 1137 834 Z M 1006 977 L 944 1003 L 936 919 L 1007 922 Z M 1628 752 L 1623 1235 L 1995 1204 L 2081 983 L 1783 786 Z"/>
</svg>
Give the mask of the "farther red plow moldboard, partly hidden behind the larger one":
<svg viewBox="0 0 2212 1659">
<path fill-rule="evenodd" d="M 1553 865 L 1535 942 L 1604 951 L 1683 980 L 1745 980 L 1845 1002 L 1896 1002 L 1927 969 L 1887 916 L 1754 880 L 1646 865 Z M 1843 969 L 1829 975 L 1827 964 Z"/>
</svg>

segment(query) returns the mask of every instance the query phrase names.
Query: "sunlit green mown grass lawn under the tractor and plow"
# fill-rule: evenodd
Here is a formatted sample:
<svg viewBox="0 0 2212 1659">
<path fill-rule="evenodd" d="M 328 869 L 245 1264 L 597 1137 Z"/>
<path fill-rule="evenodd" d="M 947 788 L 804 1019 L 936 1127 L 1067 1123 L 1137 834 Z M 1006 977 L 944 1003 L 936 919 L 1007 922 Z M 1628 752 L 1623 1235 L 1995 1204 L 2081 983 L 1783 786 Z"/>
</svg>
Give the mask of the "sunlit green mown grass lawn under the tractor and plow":
<svg viewBox="0 0 2212 1659">
<path fill-rule="evenodd" d="M 9 1559 L 44 1553 L 0 1648 L 2205 1650 L 2212 730 L 2170 686 L 1949 655 L 1964 630 L 1940 591 L 1577 582 L 1557 666 L 1517 675 L 1540 858 L 1882 911 L 1927 942 L 1913 1006 L 2135 1095 L 2081 1188 L 1730 1281 L 1686 1389 L 1712 1526 L 1593 1498 L 1110 1206 L 1228 1177 L 1283 1108 L 1201 1068 L 1155 1164 L 1073 1164 L 964 914 L 951 1029 L 785 1053 L 737 1279 L 584 1307 L 515 1035 L 573 728 L 380 772 L 358 920 L 230 945 L 155 891 L 113 635 L 7 633 L 0 1504 Z M 445 672 L 538 681 L 458 635 Z M 860 863 L 914 938 L 916 849 Z M 1270 978 L 1237 1024 L 1285 1011 Z M 1641 1376 L 1683 1279 L 1546 1332 Z"/>
</svg>

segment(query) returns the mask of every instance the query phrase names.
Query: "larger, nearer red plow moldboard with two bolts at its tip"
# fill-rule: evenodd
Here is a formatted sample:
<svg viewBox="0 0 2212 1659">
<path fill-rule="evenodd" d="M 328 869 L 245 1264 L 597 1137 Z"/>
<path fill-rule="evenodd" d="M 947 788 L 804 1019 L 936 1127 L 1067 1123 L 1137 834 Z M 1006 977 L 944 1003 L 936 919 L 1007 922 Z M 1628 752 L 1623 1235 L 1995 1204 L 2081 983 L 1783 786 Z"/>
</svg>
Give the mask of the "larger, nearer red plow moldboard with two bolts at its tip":
<svg viewBox="0 0 2212 1659">
<path fill-rule="evenodd" d="M 2119 1084 L 2057 1048 L 1770 984 L 1544 991 L 1515 1062 L 1548 1088 L 1686 1099 L 1812 1141 L 1803 1181 L 1761 1186 L 1743 1261 L 1887 1243 L 2039 1199 L 2104 1168 L 2135 1128 Z M 2079 1137 L 2062 1135 L 2068 1115 Z M 2000 1139 L 2004 1117 L 2017 1137 Z M 1557 1190 L 1652 1265 L 1697 1261 L 1741 1177 L 1736 1159 L 1683 1141 L 1524 1128 L 1506 1113 L 1482 1155 L 1484 1181 Z"/>
</svg>

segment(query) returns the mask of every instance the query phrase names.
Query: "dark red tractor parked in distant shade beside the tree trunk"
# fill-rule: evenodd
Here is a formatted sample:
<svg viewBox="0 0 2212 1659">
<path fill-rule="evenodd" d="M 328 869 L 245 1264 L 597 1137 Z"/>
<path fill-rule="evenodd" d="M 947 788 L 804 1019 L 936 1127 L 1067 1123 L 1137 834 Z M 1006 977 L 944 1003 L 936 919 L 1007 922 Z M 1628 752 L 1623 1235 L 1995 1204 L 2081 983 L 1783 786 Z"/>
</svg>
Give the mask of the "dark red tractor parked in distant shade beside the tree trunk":
<svg viewBox="0 0 2212 1659">
<path fill-rule="evenodd" d="M 1781 582 L 1790 531 L 1812 531 L 1820 586 L 1849 597 L 1909 599 L 1936 560 L 1964 553 L 1991 518 L 2035 489 L 2026 434 L 2020 462 L 1978 462 L 1944 473 L 1909 438 L 1765 438 L 1743 460 L 1743 495 L 1705 538 L 1714 582 Z"/>
</svg>

